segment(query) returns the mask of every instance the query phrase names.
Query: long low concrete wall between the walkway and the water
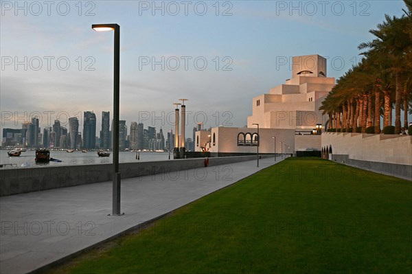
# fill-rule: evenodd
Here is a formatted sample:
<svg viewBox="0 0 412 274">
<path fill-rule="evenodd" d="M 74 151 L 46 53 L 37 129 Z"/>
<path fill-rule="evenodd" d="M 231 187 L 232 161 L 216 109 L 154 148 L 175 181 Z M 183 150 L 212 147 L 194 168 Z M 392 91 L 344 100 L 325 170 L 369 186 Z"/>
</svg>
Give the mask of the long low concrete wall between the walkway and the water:
<svg viewBox="0 0 412 274">
<path fill-rule="evenodd" d="M 262 158 L 265 157 L 273 156 L 262 155 Z M 256 155 L 209 158 L 209 165 L 223 165 L 225 163 L 251 161 L 253 159 L 256 159 Z M 119 172 L 122 173 L 122 179 L 126 179 L 165 172 L 178 172 L 179 170 L 189 170 L 192 168 L 203 168 L 204 166 L 204 158 L 120 163 Z M 112 164 L 54 165 L 1 169 L 0 196 L 111 181 L 111 174 Z"/>
</svg>

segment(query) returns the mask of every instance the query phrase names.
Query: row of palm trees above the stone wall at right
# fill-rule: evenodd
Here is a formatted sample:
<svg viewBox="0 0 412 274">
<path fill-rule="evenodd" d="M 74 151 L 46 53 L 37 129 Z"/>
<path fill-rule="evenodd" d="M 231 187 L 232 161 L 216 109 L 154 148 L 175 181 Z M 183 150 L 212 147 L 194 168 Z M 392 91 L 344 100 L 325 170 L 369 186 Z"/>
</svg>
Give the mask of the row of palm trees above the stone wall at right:
<svg viewBox="0 0 412 274">
<path fill-rule="evenodd" d="M 328 128 L 356 132 L 374 126 L 391 126 L 395 106 L 395 134 L 401 132 L 401 109 L 404 128 L 412 107 L 412 0 L 400 17 L 385 15 L 385 21 L 369 30 L 374 40 L 361 43 L 363 59 L 336 83 L 320 107 L 328 114 Z M 383 115 L 383 125 L 380 117 Z"/>
</svg>

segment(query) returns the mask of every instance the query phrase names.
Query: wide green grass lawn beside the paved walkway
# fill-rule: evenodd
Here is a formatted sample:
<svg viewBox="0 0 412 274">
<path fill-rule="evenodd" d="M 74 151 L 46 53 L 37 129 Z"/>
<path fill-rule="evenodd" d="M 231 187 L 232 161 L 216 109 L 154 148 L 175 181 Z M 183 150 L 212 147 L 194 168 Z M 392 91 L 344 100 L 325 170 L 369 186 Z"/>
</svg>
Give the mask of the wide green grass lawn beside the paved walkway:
<svg viewBox="0 0 412 274">
<path fill-rule="evenodd" d="M 289 158 L 50 273 L 412 273 L 412 183 Z"/>
</svg>

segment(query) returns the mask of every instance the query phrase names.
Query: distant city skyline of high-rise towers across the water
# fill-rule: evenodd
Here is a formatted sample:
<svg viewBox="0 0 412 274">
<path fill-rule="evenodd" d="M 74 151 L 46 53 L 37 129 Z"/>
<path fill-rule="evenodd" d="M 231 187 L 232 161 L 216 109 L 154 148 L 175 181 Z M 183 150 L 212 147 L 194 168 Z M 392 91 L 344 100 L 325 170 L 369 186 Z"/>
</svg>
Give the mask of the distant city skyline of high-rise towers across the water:
<svg viewBox="0 0 412 274">
<path fill-rule="evenodd" d="M 21 124 L 21 128 L 3 128 L 2 146 L 19 146 L 25 148 L 70 148 L 70 149 L 111 149 L 113 147 L 112 131 L 109 129 L 110 112 L 102 111 L 102 130 L 100 137 L 97 135 L 95 113 L 84 111 L 83 119 L 70 117 L 67 128 L 62 126 L 60 120 L 54 120 L 53 126 L 39 126 L 38 118 L 32 118 L 31 122 Z M 113 126 L 113 121 L 111 123 Z M 83 128 L 82 131 L 79 129 Z M 193 128 L 193 136 L 196 127 Z M 106 131 L 106 133 L 104 133 Z M 153 126 L 144 128 L 143 123 L 130 122 L 128 130 L 126 120 L 119 121 L 119 149 L 120 150 L 168 150 L 174 148 L 174 134 L 172 133 L 172 143 L 170 143 L 170 133 L 168 138 L 163 135 L 163 128 L 159 131 Z M 35 141 L 37 140 L 37 141 Z M 192 136 L 185 138 L 187 150 L 194 150 Z M 169 146 L 169 144 L 171 146 Z"/>
</svg>

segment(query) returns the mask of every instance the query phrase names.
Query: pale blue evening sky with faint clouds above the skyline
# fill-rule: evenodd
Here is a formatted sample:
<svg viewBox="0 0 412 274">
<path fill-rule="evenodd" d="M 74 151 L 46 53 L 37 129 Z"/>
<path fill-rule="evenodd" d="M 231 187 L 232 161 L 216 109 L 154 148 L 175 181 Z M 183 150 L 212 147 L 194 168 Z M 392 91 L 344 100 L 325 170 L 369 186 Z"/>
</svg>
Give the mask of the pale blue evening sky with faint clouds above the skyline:
<svg viewBox="0 0 412 274">
<path fill-rule="evenodd" d="M 174 129 L 247 124 L 252 98 L 291 77 L 291 58 L 328 58 L 339 78 L 357 46 L 403 1 L 0 1 L 1 128 L 41 128 L 93 111 L 113 118 L 113 32 L 120 25 L 120 119 Z M 191 130 L 186 130 L 190 137 Z M 2 130 L 0 130 L 2 134 Z"/>
</svg>

